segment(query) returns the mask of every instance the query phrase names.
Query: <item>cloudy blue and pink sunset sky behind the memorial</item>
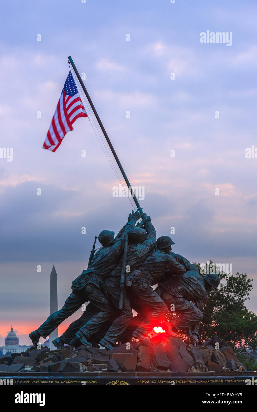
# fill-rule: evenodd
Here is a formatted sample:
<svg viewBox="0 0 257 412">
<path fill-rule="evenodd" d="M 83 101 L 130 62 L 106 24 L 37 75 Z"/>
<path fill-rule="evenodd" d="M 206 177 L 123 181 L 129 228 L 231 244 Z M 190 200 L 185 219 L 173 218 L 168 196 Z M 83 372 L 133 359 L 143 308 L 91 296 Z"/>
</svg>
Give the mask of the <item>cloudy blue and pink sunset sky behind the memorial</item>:
<svg viewBox="0 0 257 412">
<path fill-rule="evenodd" d="M 30 344 L 49 314 L 52 265 L 61 307 L 94 236 L 117 233 L 132 208 L 113 197 L 119 181 L 93 122 L 42 150 L 69 55 L 157 235 L 174 227 L 175 252 L 253 277 L 257 312 L 257 159 L 245 157 L 257 147 L 256 2 L 10 0 L 2 12 L 0 147 L 13 160 L 0 158 L 0 346 L 11 323 Z M 232 44 L 201 43 L 207 30 Z"/>
</svg>

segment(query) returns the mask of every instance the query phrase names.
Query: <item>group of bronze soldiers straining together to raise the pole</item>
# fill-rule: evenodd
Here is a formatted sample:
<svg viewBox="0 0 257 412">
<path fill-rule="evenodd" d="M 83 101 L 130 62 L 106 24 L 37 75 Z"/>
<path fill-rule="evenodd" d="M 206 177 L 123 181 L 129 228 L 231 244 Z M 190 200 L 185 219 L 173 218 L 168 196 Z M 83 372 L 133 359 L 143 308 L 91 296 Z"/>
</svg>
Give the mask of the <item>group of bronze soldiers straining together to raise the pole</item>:
<svg viewBox="0 0 257 412">
<path fill-rule="evenodd" d="M 135 227 L 140 217 L 142 221 Z M 108 230 L 103 230 L 98 238 L 102 248 L 94 256 L 92 250 L 88 268 L 72 282 L 72 293 L 64 307 L 30 333 L 33 344 L 38 343 L 40 336 L 46 338 L 88 301 L 82 316 L 55 339 L 55 346 L 99 346 L 100 343 L 111 349 L 124 339 L 147 340 L 149 332 L 163 320 L 172 304 L 179 316 L 166 323 L 166 333 L 177 336 L 177 330 L 191 328 L 191 342 L 195 344 L 208 290 L 218 287 L 218 276 L 201 277 L 189 260 L 171 251 L 174 242 L 169 236 L 161 236 L 156 241 L 151 218 L 141 208 L 130 213 L 116 238 L 114 232 Z M 120 288 L 122 271 L 124 292 L 123 287 Z M 152 286 L 156 283 L 158 287 L 154 290 Z M 133 317 L 132 309 L 137 311 L 137 316 Z"/>
</svg>

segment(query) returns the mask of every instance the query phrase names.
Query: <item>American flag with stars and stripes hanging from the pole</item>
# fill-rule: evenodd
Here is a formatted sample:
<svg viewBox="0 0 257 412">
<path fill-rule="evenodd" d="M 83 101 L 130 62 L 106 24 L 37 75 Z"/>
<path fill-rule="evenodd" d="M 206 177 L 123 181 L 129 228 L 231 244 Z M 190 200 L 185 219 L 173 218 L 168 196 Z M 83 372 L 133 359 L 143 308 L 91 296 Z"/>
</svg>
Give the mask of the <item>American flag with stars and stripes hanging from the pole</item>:
<svg viewBox="0 0 257 412">
<path fill-rule="evenodd" d="M 66 133 L 73 130 L 72 124 L 78 117 L 87 117 L 87 113 L 70 70 L 47 132 L 43 149 L 55 152 Z"/>
</svg>

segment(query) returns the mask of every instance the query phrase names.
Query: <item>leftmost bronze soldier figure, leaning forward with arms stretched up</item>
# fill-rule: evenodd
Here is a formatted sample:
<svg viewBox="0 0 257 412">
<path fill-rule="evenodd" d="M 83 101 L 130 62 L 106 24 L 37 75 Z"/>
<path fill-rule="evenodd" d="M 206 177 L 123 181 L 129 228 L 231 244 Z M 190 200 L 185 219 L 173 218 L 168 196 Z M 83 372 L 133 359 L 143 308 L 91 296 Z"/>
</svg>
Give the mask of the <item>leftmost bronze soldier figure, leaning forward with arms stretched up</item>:
<svg viewBox="0 0 257 412">
<path fill-rule="evenodd" d="M 36 346 L 40 336 L 46 338 L 50 335 L 62 321 L 71 316 L 89 299 L 90 302 L 100 310 L 96 315 L 98 316 L 99 323 L 104 323 L 107 318 L 111 318 L 113 315 L 113 306 L 103 292 L 101 280 L 107 277 L 116 266 L 120 254 L 123 252 L 126 234 L 135 226 L 135 223 L 141 217 L 142 213 L 141 208 L 138 208 L 135 213 L 132 211 L 127 223 L 120 230 L 116 238 L 114 238 L 114 232 L 110 232 L 109 230 L 103 230 L 99 234 L 98 239 L 103 247 L 94 255 L 88 269 L 83 270 L 82 274 L 72 282 L 72 293 L 69 295 L 64 306 L 59 311 L 48 316 L 47 320 L 42 323 L 38 329 L 29 334 L 33 345 Z M 99 327 L 95 325 L 94 328 L 90 330 L 90 333 L 93 335 L 99 328 L 101 328 L 101 325 Z"/>
</svg>

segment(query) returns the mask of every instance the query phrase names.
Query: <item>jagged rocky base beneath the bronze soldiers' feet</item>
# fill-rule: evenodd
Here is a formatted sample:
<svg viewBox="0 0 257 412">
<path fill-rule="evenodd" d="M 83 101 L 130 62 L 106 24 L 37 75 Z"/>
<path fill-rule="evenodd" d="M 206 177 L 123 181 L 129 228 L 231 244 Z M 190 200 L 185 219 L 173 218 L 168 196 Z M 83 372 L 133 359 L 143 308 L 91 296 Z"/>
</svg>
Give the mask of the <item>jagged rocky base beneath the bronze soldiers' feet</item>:
<svg viewBox="0 0 257 412">
<path fill-rule="evenodd" d="M 215 349 L 216 348 L 216 349 Z M 219 349 L 217 349 L 219 348 Z M 180 338 L 127 342 L 114 349 L 35 346 L 0 357 L 0 372 L 245 372 L 233 349 L 215 336 L 193 347 Z"/>
</svg>

